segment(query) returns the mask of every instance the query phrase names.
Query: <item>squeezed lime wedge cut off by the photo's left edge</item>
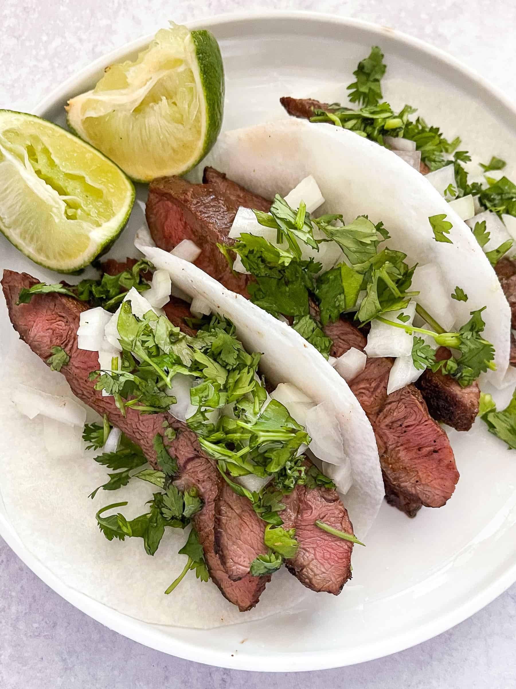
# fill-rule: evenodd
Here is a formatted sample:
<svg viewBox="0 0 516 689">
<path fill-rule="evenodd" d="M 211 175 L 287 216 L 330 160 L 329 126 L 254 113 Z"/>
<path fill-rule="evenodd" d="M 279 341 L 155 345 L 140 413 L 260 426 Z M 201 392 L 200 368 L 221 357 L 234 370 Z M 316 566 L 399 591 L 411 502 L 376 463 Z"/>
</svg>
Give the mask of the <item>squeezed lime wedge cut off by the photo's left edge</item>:
<svg viewBox="0 0 516 689">
<path fill-rule="evenodd" d="M 0 110 L 0 231 L 34 263 L 72 273 L 107 249 L 131 213 L 122 170 L 61 127 Z"/>
</svg>

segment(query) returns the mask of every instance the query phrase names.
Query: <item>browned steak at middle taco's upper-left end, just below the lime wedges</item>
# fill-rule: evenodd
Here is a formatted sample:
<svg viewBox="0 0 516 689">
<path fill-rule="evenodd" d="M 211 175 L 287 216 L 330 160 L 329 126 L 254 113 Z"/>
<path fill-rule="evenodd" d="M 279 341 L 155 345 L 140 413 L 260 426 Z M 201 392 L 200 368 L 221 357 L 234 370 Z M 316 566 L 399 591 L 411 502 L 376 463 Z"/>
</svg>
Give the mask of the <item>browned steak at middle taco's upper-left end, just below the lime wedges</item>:
<svg viewBox="0 0 516 689">
<path fill-rule="evenodd" d="M 248 276 L 233 275 L 217 243 L 231 244 L 228 232 L 239 203 L 222 196 L 209 184 L 191 184 L 179 177 L 160 177 L 149 185 L 145 209 L 147 224 L 156 245 L 171 251 L 183 239 L 190 239 L 202 254 L 195 265 L 239 294 Z"/>
</svg>

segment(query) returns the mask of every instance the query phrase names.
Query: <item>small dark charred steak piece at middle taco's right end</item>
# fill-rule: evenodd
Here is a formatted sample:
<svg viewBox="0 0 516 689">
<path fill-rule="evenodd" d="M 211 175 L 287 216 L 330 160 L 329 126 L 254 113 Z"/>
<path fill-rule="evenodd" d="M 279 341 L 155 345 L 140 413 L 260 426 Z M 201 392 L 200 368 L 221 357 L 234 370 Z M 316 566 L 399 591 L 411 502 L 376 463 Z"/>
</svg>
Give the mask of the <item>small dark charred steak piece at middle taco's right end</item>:
<svg viewBox="0 0 516 689">
<path fill-rule="evenodd" d="M 451 351 L 440 347 L 437 360 L 449 359 Z M 434 419 L 452 426 L 457 431 L 469 431 L 477 418 L 480 404 L 480 388 L 475 382 L 461 387 L 451 376 L 443 376 L 441 371 L 433 373 L 427 369 L 416 383 Z"/>
</svg>

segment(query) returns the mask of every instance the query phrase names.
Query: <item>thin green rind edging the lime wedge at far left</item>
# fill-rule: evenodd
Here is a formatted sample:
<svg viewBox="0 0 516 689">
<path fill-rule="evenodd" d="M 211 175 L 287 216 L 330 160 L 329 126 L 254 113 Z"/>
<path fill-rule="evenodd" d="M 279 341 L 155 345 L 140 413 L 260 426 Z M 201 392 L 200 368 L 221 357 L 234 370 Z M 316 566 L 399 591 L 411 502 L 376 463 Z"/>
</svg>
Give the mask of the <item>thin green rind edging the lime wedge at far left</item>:
<svg viewBox="0 0 516 689">
<path fill-rule="evenodd" d="M 116 163 L 111 161 L 107 156 L 103 154 L 103 152 L 99 151 L 96 147 L 92 146 L 90 143 L 87 141 L 84 141 L 83 138 L 80 138 L 80 136 L 76 136 L 76 134 L 68 132 L 65 130 L 64 127 L 61 127 L 60 125 L 57 125 L 54 122 L 50 122 L 48 120 L 45 120 L 43 117 L 39 117 L 37 115 L 30 114 L 28 112 L 19 112 L 17 110 L 8 110 L 7 108 L 0 109 L 0 134 L 3 131 L 2 127 L 2 121 L 3 119 L 8 119 L 9 116 L 17 116 L 17 117 L 22 117 L 23 119 L 28 119 L 28 120 L 35 120 L 43 123 L 45 127 L 48 127 L 49 130 L 58 130 L 60 133 L 62 132 L 65 134 L 66 137 L 70 137 L 76 141 L 74 141 L 74 144 L 77 145 L 78 147 L 83 147 L 85 150 L 89 150 L 93 152 L 96 156 L 99 158 L 102 158 L 105 163 L 111 167 L 114 167 L 116 169 L 117 174 L 120 175 L 120 181 L 125 183 L 127 186 L 127 195 L 125 199 L 125 206 L 127 207 L 125 214 L 122 216 L 121 220 L 118 221 L 116 227 L 112 230 L 112 232 L 109 233 L 109 236 L 105 238 L 103 241 L 99 241 L 92 247 L 91 251 L 88 251 L 86 254 L 81 256 L 81 260 L 78 261 L 78 263 L 63 267 L 63 266 L 56 266 L 56 265 L 49 265 L 48 263 L 45 263 L 45 260 L 38 260 L 37 256 L 34 255 L 29 255 L 25 249 L 25 246 L 20 245 L 20 243 L 17 242 L 15 236 L 12 236 L 6 232 L 4 232 L 3 228 L 0 226 L 0 232 L 3 234 L 3 236 L 8 240 L 10 244 L 12 244 L 14 247 L 16 247 L 21 253 L 29 258 L 29 260 L 32 261 L 32 263 L 36 263 L 36 265 L 41 265 L 44 268 L 47 268 L 49 270 L 58 272 L 58 273 L 63 273 L 63 274 L 74 274 L 77 272 L 82 271 L 85 269 L 87 266 L 89 266 L 98 256 L 101 256 L 102 254 L 105 254 L 106 251 L 109 250 L 111 245 L 113 245 L 114 241 L 120 236 L 120 233 L 122 232 L 123 229 L 125 229 L 127 222 L 129 220 L 129 217 L 131 216 L 131 211 L 133 209 L 134 201 L 136 198 L 136 190 L 134 188 L 133 183 L 131 182 L 131 179 L 125 174 L 125 172 L 120 169 Z M 87 171 L 85 171 L 87 172 Z M 109 226 L 109 221 L 107 223 L 104 223 L 104 226 Z"/>
</svg>

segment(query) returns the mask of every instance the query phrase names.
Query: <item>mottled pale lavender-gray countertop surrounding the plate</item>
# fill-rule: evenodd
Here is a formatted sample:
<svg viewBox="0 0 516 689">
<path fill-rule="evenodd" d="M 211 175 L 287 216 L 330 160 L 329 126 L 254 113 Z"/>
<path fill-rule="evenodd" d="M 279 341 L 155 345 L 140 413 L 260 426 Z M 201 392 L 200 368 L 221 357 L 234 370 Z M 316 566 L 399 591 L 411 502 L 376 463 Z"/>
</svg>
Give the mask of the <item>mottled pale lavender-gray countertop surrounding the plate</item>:
<svg viewBox="0 0 516 689">
<path fill-rule="evenodd" d="M 259 7 L 237 0 L 3 0 L 1 8 L 0 107 L 12 110 L 31 110 L 68 76 L 166 19 L 267 8 L 390 25 L 447 50 L 516 99 L 516 6 L 508 0 L 261 0 Z M 516 687 L 516 585 L 447 633 L 385 659 L 259 675 L 176 659 L 117 635 L 45 586 L 0 539 L 0 619 L 1 689 Z"/>
</svg>

